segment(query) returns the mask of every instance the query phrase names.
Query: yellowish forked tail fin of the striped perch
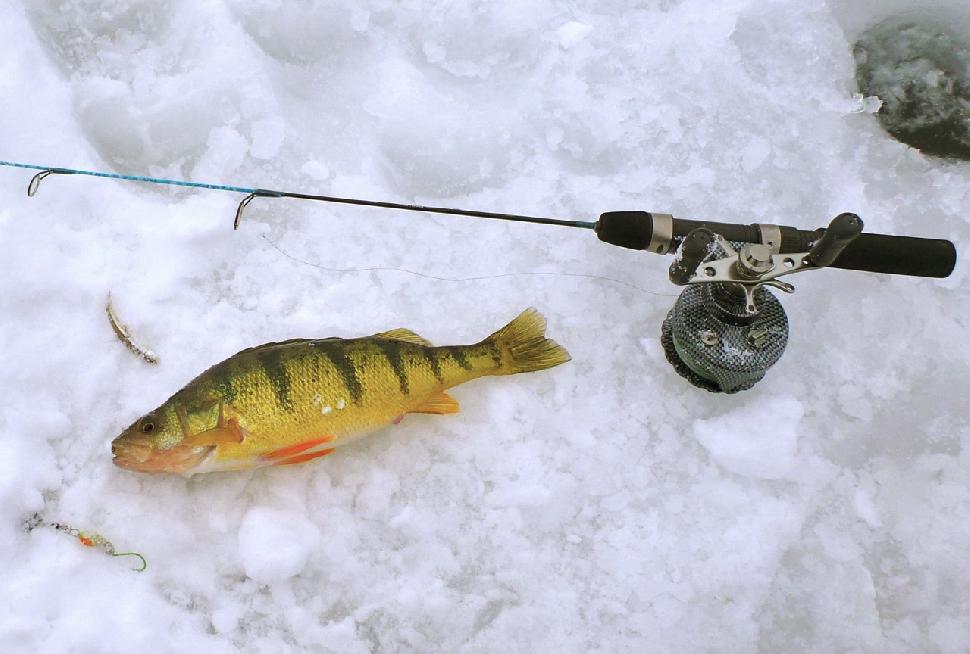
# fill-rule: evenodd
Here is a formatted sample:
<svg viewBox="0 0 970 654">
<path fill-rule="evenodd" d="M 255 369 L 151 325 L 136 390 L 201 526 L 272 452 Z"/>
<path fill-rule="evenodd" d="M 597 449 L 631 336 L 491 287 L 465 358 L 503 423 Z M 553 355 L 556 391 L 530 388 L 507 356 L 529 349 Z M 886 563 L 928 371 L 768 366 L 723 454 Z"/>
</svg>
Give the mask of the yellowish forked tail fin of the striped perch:
<svg viewBox="0 0 970 654">
<path fill-rule="evenodd" d="M 566 363 L 572 357 L 566 348 L 546 338 L 546 319 L 535 309 L 526 309 L 512 322 L 485 339 L 502 352 L 502 364 L 493 374 L 545 370 Z"/>
</svg>

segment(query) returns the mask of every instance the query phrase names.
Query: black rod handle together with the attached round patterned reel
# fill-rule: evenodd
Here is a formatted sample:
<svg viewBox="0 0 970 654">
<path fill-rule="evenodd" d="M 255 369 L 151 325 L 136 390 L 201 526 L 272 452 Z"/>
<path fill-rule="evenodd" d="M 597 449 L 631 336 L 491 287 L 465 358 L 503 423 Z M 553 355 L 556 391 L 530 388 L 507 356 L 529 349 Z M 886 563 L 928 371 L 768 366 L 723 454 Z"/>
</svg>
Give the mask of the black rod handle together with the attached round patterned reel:
<svg viewBox="0 0 970 654">
<path fill-rule="evenodd" d="M 950 241 L 863 234 L 862 227 L 852 213 L 806 231 L 614 211 L 600 216 L 595 231 L 613 245 L 674 254 L 670 281 L 684 290 L 661 327 L 667 360 L 699 388 L 736 393 L 761 380 L 788 344 L 788 317 L 768 289 L 795 287 L 780 277 L 827 267 L 947 277 L 956 265 Z"/>
</svg>

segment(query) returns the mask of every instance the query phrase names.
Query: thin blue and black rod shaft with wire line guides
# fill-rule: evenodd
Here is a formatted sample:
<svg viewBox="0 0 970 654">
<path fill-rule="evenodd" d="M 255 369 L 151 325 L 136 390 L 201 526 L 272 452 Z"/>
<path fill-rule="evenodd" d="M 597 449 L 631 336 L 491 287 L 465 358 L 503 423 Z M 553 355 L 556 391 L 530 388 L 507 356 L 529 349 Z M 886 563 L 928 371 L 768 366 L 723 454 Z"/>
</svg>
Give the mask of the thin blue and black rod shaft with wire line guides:
<svg viewBox="0 0 970 654">
<path fill-rule="evenodd" d="M 509 220 L 513 222 L 536 223 L 539 225 L 559 225 L 562 227 L 580 227 L 583 229 L 595 229 L 596 223 L 586 220 L 562 220 L 560 218 L 544 218 L 540 216 L 526 216 L 515 213 L 496 213 L 491 211 L 471 211 L 468 209 L 452 209 L 448 207 L 430 207 L 419 204 L 403 204 L 399 202 L 385 202 L 382 200 L 362 200 L 359 198 L 341 198 L 332 195 L 314 195 L 310 193 L 300 193 L 295 191 L 274 191 L 265 188 L 249 188 L 246 186 L 236 186 L 228 184 L 213 184 L 210 182 L 189 182 L 180 179 L 166 179 L 163 177 L 149 177 L 146 175 L 124 175 L 121 173 L 106 173 L 95 170 L 83 170 L 80 168 L 60 168 L 56 166 L 40 166 L 37 164 L 20 163 L 17 161 L 2 161 L 0 166 L 11 168 L 25 168 L 28 170 L 39 170 L 41 172 L 31 178 L 27 185 L 27 195 L 33 197 L 40 188 L 40 183 L 51 175 L 88 175 L 90 177 L 106 177 L 109 179 L 120 179 L 129 182 L 144 182 L 147 184 L 160 184 L 165 186 L 183 186 L 187 188 L 201 188 L 213 191 L 230 191 L 232 193 L 247 193 L 245 198 L 236 207 L 236 217 L 233 221 L 233 229 L 239 229 L 243 211 L 255 198 L 292 198 L 294 200 L 312 200 L 314 202 L 329 202 L 334 204 L 352 204 L 364 207 L 380 207 L 383 209 L 399 209 L 401 211 L 417 211 L 421 213 L 439 213 L 453 216 L 467 216 L 471 218 L 493 218 L 496 220 Z"/>
</svg>

